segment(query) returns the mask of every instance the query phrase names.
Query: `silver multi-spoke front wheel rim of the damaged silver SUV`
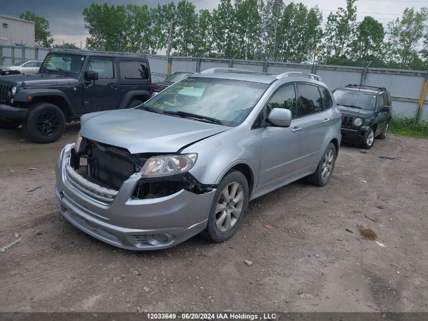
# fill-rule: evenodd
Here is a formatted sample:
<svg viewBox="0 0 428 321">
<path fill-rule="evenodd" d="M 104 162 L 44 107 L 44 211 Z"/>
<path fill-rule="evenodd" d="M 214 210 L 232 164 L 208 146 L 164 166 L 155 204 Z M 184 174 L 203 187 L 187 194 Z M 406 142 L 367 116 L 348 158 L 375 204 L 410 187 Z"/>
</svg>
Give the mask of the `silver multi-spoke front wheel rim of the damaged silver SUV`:
<svg viewBox="0 0 428 321">
<path fill-rule="evenodd" d="M 244 204 L 244 190 L 238 182 L 227 185 L 215 206 L 215 225 L 220 232 L 230 230 L 238 222 Z"/>
</svg>

